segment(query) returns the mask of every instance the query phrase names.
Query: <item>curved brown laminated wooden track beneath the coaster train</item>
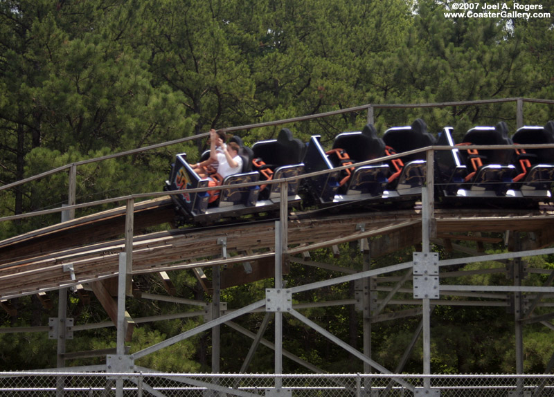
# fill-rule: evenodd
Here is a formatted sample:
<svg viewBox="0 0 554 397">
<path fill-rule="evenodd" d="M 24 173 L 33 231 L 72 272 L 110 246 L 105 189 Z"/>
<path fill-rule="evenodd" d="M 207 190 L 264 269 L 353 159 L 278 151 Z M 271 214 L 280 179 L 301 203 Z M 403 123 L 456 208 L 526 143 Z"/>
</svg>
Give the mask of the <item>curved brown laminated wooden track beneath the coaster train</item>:
<svg viewBox="0 0 554 397">
<path fill-rule="evenodd" d="M 152 225 L 170 221 L 172 206 L 166 199 L 160 199 L 137 205 L 136 213 L 141 212 L 143 220 L 139 223 Z M 137 219 L 141 216 L 136 216 Z M 461 239 L 467 239 L 467 232 L 532 232 L 533 239 L 528 239 L 523 248 L 537 249 L 553 243 L 553 219 L 551 210 L 480 209 L 476 212 L 438 208 L 431 221 L 436 223 L 437 236 L 445 240 L 456 240 L 456 233 L 463 233 Z M 118 208 L 0 242 L 0 299 L 116 277 L 118 255 L 125 252 L 125 239 L 113 237 L 123 234 L 124 223 L 125 208 Z M 364 225 L 363 231 L 360 225 Z M 135 236 L 132 273 L 245 261 L 267 264 L 267 259 L 274 257 L 274 229 L 274 221 L 262 221 Z M 87 233 L 91 234 L 84 237 Z M 221 237 L 226 238 L 227 259 L 222 258 L 222 246 L 217 241 Z M 370 237 L 375 237 L 370 239 L 372 257 L 417 245 L 421 241 L 421 213 L 416 209 L 337 215 L 291 213 L 287 253 L 296 255 Z"/>
</svg>

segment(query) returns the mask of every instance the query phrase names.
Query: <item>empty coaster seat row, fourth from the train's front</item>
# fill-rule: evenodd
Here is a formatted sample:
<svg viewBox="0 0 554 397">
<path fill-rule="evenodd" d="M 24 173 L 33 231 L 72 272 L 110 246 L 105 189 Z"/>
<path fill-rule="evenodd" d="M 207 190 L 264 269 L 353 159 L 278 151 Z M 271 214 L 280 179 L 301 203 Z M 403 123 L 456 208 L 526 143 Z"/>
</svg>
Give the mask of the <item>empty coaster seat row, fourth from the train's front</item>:
<svg viewBox="0 0 554 397">
<path fill-rule="evenodd" d="M 435 144 L 435 137 L 427 132 L 427 125 L 420 118 L 410 126 L 387 129 L 383 140 L 387 155 L 400 154 Z M 418 196 L 427 178 L 427 161 L 424 152 L 406 154 L 390 160 L 393 174 L 388 176 L 386 197 Z"/>
</svg>

